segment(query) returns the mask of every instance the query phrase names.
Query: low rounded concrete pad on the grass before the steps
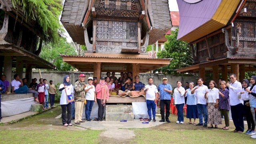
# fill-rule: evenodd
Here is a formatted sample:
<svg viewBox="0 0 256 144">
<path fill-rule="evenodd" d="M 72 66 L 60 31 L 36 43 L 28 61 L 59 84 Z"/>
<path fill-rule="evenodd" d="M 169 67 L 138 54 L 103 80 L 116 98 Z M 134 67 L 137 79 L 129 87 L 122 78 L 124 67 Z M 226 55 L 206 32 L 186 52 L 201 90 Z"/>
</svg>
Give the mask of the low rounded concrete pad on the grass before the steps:
<svg viewBox="0 0 256 144">
<path fill-rule="evenodd" d="M 153 126 L 158 126 L 160 124 L 164 124 L 166 122 L 159 122 L 160 118 L 156 117 L 156 122 L 149 122 L 149 124 L 142 124 L 143 121 L 134 119 L 134 121 L 127 122 L 113 122 L 113 121 L 91 121 L 91 122 L 82 122 L 81 124 L 77 124 L 77 126 L 81 126 L 83 128 L 90 128 L 92 130 L 109 130 L 109 129 L 120 129 L 120 128 L 150 128 Z M 72 120 L 72 124 L 74 124 L 74 120 Z M 76 124 L 74 124 L 76 125 Z"/>
</svg>

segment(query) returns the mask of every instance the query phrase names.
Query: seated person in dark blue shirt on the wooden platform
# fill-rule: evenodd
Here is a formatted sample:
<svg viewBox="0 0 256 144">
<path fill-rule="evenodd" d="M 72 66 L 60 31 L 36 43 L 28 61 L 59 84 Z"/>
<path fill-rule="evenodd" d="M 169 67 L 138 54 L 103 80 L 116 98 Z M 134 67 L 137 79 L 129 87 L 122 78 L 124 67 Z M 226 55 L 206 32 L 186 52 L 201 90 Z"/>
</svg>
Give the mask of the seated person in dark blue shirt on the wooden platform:
<svg viewBox="0 0 256 144">
<path fill-rule="evenodd" d="M 132 90 L 131 91 L 131 96 L 141 96 L 143 94 L 145 94 L 144 92 L 144 84 L 142 82 L 139 81 L 140 77 L 139 76 L 135 76 L 135 82 L 132 84 Z"/>
</svg>

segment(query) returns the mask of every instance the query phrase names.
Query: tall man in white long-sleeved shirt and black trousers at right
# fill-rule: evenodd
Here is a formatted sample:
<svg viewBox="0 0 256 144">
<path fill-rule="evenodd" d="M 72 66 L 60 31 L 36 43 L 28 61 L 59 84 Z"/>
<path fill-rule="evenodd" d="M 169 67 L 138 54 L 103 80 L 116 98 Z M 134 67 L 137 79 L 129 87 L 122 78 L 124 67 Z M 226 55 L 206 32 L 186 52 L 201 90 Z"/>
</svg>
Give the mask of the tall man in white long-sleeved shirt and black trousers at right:
<svg viewBox="0 0 256 144">
<path fill-rule="evenodd" d="M 242 133 L 244 132 L 244 115 L 243 115 L 243 103 L 242 98 L 238 98 L 238 94 L 242 89 L 242 84 L 236 80 L 235 74 L 230 74 L 229 76 L 231 84 L 227 83 L 229 88 L 229 98 L 230 98 L 230 110 L 232 120 L 236 127 L 232 132 Z"/>
</svg>

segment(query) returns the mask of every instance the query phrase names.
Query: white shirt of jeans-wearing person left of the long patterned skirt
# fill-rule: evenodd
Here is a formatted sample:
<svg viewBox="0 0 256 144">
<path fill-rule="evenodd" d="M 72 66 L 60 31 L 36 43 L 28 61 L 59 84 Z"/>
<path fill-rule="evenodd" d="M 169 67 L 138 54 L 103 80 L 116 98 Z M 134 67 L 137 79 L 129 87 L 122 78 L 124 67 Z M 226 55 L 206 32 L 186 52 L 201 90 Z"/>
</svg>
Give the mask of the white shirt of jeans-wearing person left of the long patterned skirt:
<svg viewBox="0 0 256 144">
<path fill-rule="evenodd" d="M 206 104 L 206 99 L 204 98 L 204 94 L 208 90 L 208 87 L 205 85 L 198 86 L 196 92 L 196 104 Z"/>
</svg>

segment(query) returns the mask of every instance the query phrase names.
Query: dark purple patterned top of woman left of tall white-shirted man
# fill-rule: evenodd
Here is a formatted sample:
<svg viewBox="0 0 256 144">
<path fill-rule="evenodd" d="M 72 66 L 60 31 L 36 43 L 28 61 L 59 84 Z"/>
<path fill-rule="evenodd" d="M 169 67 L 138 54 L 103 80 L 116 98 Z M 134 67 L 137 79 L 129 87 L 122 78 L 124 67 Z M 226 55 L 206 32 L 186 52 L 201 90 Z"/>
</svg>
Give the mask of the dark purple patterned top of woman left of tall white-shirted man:
<svg viewBox="0 0 256 144">
<path fill-rule="evenodd" d="M 224 109 L 224 110 L 230 110 L 230 98 L 229 98 L 229 90 L 228 89 L 224 89 L 219 90 L 222 94 L 224 94 L 224 98 L 222 98 L 222 96 L 219 94 L 219 109 Z"/>
</svg>

